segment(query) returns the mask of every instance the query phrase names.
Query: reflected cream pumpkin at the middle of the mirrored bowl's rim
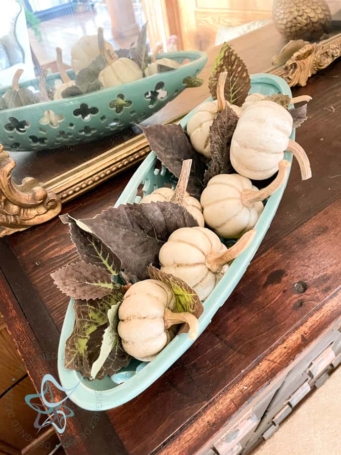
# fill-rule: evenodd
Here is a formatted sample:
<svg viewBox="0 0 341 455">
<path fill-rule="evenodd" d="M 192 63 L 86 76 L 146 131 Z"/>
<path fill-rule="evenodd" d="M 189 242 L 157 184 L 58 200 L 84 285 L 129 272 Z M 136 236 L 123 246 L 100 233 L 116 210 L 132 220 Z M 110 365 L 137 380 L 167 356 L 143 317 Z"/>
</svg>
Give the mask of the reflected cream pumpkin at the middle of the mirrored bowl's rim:
<svg viewBox="0 0 341 455">
<path fill-rule="evenodd" d="M 99 81 L 104 88 L 133 82 L 143 77 L 141 68 L 131 59 L 122 57 L 108 65 L 99 74 Z"/>
</svg>

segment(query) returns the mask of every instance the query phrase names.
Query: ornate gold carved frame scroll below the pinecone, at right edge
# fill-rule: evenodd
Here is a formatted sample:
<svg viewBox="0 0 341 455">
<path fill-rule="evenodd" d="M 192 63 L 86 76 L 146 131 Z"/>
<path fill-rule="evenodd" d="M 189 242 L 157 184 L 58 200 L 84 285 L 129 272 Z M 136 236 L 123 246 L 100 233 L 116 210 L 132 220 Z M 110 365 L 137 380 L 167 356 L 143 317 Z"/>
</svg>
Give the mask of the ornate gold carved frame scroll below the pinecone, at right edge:
<svg viewBox="0 0 341 455">
<path fill-rule="evenodd" d="M 341 33 L 318 43 L 289 41 L 272 61 L 282 63 L 269 70 L 281 76 L 290 87 L 307 85 L 310 76 L 329 66 L 341 56 Z"/>
</svg>

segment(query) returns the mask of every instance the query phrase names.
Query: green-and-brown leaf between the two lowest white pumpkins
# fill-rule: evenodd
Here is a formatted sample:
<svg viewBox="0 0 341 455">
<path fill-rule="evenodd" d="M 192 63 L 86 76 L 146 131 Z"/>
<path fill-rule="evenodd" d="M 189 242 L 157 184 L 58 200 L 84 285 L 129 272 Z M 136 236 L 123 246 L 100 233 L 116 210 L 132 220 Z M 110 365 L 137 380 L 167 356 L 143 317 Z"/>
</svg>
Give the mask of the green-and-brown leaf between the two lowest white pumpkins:
<svg viewBox="0 0 341 455">
<path fill-rule="evenodd" d="M 187 311 L 199 318 L 204 312 L 204 306 L 194 289 L 187 285 L 180 278 L 159 270 L 150 264 L 147 267 L 147 275 L 152 280 L 161 281 L 168 285 L 174 293 L 176 309 L 179 313 Z M 179 333 L 188 332 L 188 325 L 183 324 Z"/>
</svg>

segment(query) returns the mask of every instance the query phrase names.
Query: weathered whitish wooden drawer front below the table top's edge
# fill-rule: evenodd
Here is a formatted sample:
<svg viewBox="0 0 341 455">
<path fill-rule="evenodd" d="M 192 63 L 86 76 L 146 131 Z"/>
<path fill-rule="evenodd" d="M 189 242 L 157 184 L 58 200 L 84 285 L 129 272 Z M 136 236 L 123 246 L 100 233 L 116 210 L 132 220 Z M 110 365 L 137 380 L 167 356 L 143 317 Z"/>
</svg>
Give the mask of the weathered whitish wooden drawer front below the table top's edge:
<svg viewBox="0 0 341 455">
<path fill-rule="evenodd" d="M 271 384 L 246 403 L 198 455 L 245 455 L 279 428 L 314 387 L 341 363 L 341 333 L 329 330 L 309 346 Z"/>
</svg>

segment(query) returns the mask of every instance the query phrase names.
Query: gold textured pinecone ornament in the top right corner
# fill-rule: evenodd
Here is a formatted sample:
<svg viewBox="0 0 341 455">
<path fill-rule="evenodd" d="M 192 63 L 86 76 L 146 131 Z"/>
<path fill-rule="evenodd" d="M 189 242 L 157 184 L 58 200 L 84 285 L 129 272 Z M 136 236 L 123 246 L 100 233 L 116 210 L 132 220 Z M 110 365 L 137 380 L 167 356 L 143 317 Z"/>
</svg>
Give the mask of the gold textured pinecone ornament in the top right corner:
<svg viewBox="0 0 341 455">
<path fill-rule="evenodd" d="M 331 21 L 325 0 L 274 0 L 272 17 L 279 33 L 288 39 L 318 39 Z"/>
</svg>

